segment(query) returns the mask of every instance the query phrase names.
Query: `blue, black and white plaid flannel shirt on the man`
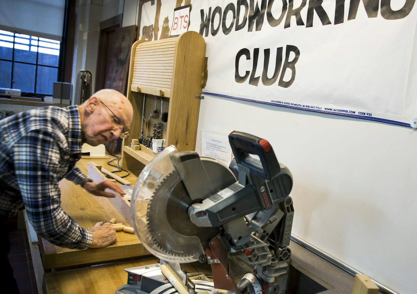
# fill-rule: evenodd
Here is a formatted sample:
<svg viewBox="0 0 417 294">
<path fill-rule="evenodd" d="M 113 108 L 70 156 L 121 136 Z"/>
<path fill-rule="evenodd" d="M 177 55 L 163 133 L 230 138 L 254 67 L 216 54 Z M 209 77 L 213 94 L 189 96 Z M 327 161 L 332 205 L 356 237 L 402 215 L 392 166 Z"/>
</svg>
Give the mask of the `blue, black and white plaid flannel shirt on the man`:
<svg viewBox="0 0 417 294">
<path fill-rule="evenodd" d="M 0 120 L 0 218 L 23 206 L 36 233 L 51 243 L 83 249 L 92 240 L 61 208 L 58 182 L 80 184 L 81 157 L 77 106 L 42 107 Z"/>
</svg>

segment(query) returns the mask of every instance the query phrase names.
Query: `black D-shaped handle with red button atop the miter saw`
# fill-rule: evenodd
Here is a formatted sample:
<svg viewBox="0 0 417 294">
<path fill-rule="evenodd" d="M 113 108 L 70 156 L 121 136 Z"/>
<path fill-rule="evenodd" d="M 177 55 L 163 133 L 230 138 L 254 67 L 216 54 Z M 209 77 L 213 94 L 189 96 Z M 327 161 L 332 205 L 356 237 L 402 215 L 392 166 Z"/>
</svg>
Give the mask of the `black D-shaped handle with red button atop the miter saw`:
<svg viewBox="0 0 417 294">
<path fill-rule="evenodd" d="M 252 174 L 271 180 L 281 171 L 274 149 L 265 139 L 233 131 L 229 134 L 229 142 L 236 163 L 249 168 Z M 258 155 L 259 160 L 250 154 Z"/>
</svg>

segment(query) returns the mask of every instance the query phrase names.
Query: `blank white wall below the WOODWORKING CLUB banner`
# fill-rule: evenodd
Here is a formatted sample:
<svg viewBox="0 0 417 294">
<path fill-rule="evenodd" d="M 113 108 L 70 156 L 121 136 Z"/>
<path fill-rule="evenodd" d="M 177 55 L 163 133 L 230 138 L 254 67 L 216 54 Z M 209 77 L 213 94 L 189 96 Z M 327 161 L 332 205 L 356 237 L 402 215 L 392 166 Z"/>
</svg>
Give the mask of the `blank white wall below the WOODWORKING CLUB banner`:
<svg viewBox="0 0 417 294">
<path fill-rule="evenodd" d="M 267 139 L 294 177 L 292 233 L 399 293 L 417 275 L 417 131 L 205 95 L 201 129 Z"/>
</svg>

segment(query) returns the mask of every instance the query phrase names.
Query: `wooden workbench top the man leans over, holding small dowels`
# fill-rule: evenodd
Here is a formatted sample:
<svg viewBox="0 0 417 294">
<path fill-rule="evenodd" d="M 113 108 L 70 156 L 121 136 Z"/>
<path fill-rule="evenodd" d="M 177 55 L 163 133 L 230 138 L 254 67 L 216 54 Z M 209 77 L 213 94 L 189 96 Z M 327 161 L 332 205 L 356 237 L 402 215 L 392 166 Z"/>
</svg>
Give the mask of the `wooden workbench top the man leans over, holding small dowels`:
<svg viewBox="0 0 417 294">
<path fill-rule="evenodd" d="M 77 166 L 85 174 L 87 174 L 88 161 L 91 160 L 82 159 L 77 163 Z M 113 167 L 106 164 L 108 160 L 94 159 L 93 161 L 109 170 L 114 170 Z M 136 182 L 135 175 L 130 175 L 126 179 L 132 182 L 132 185 Z M 114 208 L 108 198 L 91 195 L 79 185 L 75 185 L 73 182 L 65 179 L 60 182 L 60 188 L 61 207 L 83 228 L 91 230 L 95 223 L 102 220 L 108 221 L 113 217 L 117 218 L 120 223 L 126 223 L 126 220 Z M 125 232 L 118 232 L 116 243 L 110 246 L 104 248 L 88 248 L 85 250 L 61 248 L 41 238 L 40 252 L 44 269 L 100 264 L 149 255 L 148 251 L 139 242 L 136 234 Z"/>
</svg>

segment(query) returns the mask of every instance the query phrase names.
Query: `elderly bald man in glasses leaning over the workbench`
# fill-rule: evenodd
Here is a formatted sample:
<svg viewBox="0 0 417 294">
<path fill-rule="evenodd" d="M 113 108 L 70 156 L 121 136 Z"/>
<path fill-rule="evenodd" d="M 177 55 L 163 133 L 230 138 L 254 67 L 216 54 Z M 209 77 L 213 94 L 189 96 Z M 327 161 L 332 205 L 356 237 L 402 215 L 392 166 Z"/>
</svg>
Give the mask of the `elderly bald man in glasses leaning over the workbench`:
<svg viewBox="0 0 417 294">
<path fill-rule="evenodd" d="M 58 182 L 65 177 L 97 196 L 113 197 L 104 192 L 106 188 L 124 194 L 108 180 L 92 182 L 75 163 L 81 157 L 83 143 L 97 146 L 123 137 L 132 117 L 128 99 L 104 89 L 80 106 L 42 107 L 1 120 L 1 223 L 25 208 L 36 233 L 57 246 L 83 249 L 114 243 L 116 231 L 110 223 L 97 223 L 89 231 L 62 210 Z M 13 279 L 7 258 L 10 243 L 1 243 L 0 264 Z"/>
</svg>

